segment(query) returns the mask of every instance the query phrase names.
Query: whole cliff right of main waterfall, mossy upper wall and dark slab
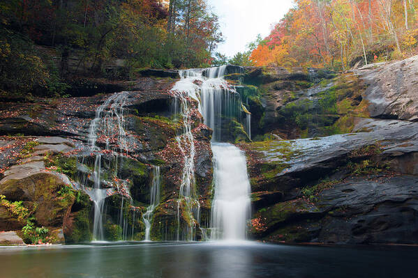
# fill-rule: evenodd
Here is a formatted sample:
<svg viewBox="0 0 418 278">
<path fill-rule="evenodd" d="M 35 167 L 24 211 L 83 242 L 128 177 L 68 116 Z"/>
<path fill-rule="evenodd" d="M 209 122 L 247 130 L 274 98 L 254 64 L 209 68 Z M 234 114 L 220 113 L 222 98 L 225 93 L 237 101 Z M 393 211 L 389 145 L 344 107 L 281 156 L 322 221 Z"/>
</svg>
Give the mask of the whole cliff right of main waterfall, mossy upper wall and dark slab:
<svg viewBox="0 0 418 278">
<path fill-rule="evenodd" d="M 415 56 L 320 82 L 288 71 L 261 85 L 274 136 L 240 145 L 253 238 L 417 243 L 417 66 Z"/>
</svg>

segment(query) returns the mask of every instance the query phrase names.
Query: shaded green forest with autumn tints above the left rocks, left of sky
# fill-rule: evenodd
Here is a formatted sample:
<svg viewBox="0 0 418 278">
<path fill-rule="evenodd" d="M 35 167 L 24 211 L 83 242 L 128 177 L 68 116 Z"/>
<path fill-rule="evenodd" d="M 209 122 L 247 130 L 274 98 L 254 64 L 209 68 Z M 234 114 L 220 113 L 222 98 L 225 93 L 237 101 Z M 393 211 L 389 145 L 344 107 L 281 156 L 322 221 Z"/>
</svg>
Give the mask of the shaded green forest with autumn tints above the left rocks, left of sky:
<svg viewBox="0 0 418 278">
<path fill-rule="evenodd" d="M 110 64 L 118 75 L 209 66 L 223 41 L 205 0 L 1 0 L 0 24 L 0 90 L 20 93 L 64 91 L 63 77 Z"/>
</svg>

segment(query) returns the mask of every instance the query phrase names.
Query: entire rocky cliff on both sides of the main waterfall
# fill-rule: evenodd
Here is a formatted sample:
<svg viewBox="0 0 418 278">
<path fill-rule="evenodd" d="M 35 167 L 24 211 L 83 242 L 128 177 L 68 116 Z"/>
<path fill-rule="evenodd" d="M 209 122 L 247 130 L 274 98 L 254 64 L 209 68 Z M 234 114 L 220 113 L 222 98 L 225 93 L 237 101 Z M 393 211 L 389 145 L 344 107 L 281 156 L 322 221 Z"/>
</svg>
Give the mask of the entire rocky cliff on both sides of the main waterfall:
<svg viewBox="0 0 418 278">
<path fill-rule="evenodd" d="M 240 123 L 223 127 L 230 130 L 226 140 L 246 150 L 251 238 L 417 243 L 417 72 L 418 56 L 343 73 L 228 67 L 225 78 L 251 112 L 252 139 Z M 185 163 L 176 139 L 183 123 L 170 93 L 177 72 L 143 75 L 117 89 L 126 90 L 129 148 L 112 137 L 97 139 L 100 187 L 107 192 L 105 239 L 144 239 L 142 215 L 157 166 L 161 200 L 151 239 L 175 239 L 179 224 L 202 228 L 195 238 L 203 239 L 213 196 L 212 131 L 203 125 L 196 102 L 188 100 L 194 111 L 197 222 L 177 203 Z M 3 244 L 21 244 L 19 237 L 27 243 L 93 238 L 95 204 L 89 192 L 98 155 L 89 148 L 89 128 L 110 94 L 84 91 L 75 98 L 0 104 Z"/>
</svg>

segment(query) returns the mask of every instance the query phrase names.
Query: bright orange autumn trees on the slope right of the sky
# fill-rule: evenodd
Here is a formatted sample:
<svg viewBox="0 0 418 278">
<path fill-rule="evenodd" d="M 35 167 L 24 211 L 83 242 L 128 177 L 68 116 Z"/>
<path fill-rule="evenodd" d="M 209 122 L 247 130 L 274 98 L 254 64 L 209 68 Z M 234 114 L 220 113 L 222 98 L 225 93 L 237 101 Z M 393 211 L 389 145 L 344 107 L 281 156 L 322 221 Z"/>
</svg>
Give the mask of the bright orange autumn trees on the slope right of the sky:
<svg viewBox="0 0 418 278">
<path fill-rule="evenodd" d="M 395 50 L 406 56 L 418 47 L 418 0 L 408 1 L 408 24 L 403 0 L 295 0 L 295 4 L 253 50 L 255 65 L 344 69 L 359 59 L 391 59 Z"/>
</svg>

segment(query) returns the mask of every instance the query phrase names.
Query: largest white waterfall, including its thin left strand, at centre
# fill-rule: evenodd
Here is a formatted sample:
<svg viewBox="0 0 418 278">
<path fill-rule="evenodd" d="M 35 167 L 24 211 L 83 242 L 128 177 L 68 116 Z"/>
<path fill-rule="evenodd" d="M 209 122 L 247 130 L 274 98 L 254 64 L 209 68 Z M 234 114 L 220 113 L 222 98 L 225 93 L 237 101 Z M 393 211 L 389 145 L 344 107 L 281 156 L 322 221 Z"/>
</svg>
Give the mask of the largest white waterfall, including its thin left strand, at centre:
<svg viewBox="0 0 418 278">
<path fill-rule="evenodd" d="M 228 121 L 241 123 L 241 96 L 228 84 L 223 76 L 227 67 L 181 70 L 181 80 L 172 89 L 173 95 L 181 101 L 181 115 L 184 121 L 184 133 L 177 137 L 179 148 L 184 155 L 184 171 L 178 201 L 178 229 L 177 240 L 180 240 L 180 206 L 188 208 L 191 223 L 199 224 L 199 202 L 194 190 L 194 156 L 195 146 L 191 132 L 190 114 L 187 97 L 197 100 L 199 111 L 204 123 L 214 133 L 212 135 L 212 150 L 215 167 L 215 196 L 211 212 L 211 240 L 244 240 L 246 238 L 246 221 L 250 215 L 251 192 L 246 171 L 246 157 L 244 153 L 232 144 L 218 144 L 222 141 L 223 130 Z M 186 94 L 186 95 L 185 95 Z M 177 107 L 177 105 L 174 105 Z M 247 111 L 246 111 L 247 112 Z M 225 121 L 226 119 L 226 121 Z M 244 123 L 248 137 L 251 137 L 251 116 L 246 114 Z M 185 150 L 187 146 L 188 151 Z M 195 224 L 191 224 L 187 234 L 188 240 L 193 238 Z M 203 231 L 203 229 L 201 229 Z"/>
</svg>

